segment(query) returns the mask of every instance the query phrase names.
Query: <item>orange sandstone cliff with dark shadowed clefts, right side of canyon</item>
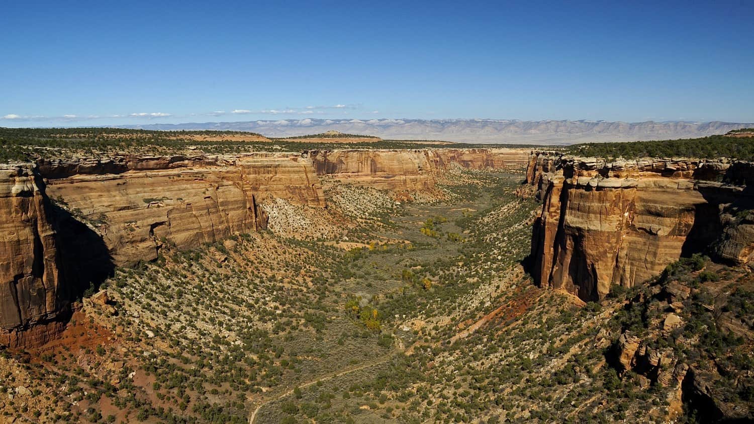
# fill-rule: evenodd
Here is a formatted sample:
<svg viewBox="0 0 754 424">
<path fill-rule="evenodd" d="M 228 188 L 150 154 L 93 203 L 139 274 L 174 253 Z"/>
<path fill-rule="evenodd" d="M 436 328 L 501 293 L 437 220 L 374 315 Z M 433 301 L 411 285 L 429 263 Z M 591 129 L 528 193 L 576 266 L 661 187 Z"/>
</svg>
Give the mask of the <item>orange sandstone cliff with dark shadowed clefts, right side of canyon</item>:
<svg viewBox="0 0 754 424">
<path fill-rule="evenodd" d="M 527 180 L 543 201 L 531 256 L 542 286 L 599 300 L 692 253 L 752 260 L 752 163 L 534 152 Z"/>
</svg>

